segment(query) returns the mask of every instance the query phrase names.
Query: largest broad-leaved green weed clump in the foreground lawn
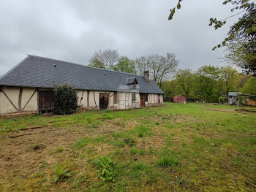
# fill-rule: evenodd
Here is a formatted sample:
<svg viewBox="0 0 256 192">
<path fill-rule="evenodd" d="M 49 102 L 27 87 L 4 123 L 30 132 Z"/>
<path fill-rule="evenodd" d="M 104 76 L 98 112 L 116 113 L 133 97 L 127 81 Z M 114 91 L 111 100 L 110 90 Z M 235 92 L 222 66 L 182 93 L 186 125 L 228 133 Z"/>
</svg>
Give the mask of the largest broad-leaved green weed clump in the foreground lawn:
<svg viewBox="0 0 256 192">
<path fill-rule="evenodd" d="M 111 160 L 111 157 L 107 157 L 105 155 L 99 157 L 97 159 L 97 166 L 99 166 L 99 179 L 103 181 L 116 181 L 116 170 L 115 170 L 115 164 Z"/>
</svg>

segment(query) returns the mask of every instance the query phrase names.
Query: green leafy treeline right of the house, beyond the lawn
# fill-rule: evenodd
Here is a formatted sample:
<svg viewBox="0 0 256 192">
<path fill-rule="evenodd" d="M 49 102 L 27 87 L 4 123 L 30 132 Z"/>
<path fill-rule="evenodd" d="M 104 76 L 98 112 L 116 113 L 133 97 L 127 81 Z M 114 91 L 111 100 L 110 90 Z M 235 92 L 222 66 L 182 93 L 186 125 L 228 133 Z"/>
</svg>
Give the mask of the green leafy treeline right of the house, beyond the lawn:
<svg viewBox="0 0 256 192">
<path fill-rule="evenodd" d="M 231 91 L 256 95 L 256 77 L 241 74 L 231 66 L 202 66 L 196 71 L 179 69 L 173 80 L 165 81 L 161 88 L 165 89 L 166 101 L 183 95 L 188 101 L 218 102 Z"/>
</svg>

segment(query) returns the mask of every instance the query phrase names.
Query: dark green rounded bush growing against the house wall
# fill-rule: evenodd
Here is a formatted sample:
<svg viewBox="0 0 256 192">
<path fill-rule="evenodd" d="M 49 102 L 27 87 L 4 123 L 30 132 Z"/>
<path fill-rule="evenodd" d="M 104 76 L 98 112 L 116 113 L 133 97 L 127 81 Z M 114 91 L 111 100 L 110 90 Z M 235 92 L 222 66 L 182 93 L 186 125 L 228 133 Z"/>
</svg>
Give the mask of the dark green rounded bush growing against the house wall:
<svg viewBox="0 0 256 192">
<path fill-rule="evenodd" d="M 55 114 L 65 115 L 76 111 L 78 96 L 72 85 L 56 85 L 53 88 L 53 100 Z"/>
</svg>

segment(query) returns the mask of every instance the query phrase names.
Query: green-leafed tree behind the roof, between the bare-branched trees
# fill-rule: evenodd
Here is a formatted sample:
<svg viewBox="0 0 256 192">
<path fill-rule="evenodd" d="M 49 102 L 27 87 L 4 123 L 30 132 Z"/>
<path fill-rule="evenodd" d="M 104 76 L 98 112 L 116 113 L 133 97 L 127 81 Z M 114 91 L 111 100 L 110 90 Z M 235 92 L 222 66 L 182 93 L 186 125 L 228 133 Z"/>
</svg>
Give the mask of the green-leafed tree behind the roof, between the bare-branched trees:
<svg viewBox="0 0 256 192">
<path fill-rule="evenodd" d="M 112 69 L 116 72 L 137 73 L 135 70 L 135 61 L 129 60 L 129 58 L 125 56 L 121 57 L 118 64 L 113 66 Z"/>
</svg>

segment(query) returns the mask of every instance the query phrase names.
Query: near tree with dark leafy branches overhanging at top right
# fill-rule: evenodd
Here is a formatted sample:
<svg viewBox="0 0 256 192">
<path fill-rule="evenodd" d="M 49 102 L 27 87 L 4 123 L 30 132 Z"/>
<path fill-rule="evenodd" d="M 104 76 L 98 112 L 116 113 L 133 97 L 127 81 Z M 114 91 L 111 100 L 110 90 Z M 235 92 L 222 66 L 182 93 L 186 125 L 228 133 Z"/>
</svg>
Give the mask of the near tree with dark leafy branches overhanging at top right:
<svg viewBox="0 0 256 192">
<path fill-rule="evenodd" d="M 169 20 L 173 19 L 176 9 L 181 8 L 181 1 L 178 0 L 177 6 L 170 9 Z M 231 12 L 242 10 L 233 16 L 241 13 L 244 15 L 230 27 L 230 31 L 227 33 L 228 36 L 213 50 L 217 49 L 217 47 L 227 46 L 227 50 L 230 51 L 230 55 L 227 55 L 227 60 L 240 66 L 246 72 L 256 75 L 256 4 L 252 0 L 226 0 L 223 2 L 223 4 L 229 3 L 234 5 Z M 215 29 L 221 28 L 225 25 L 227 19 L 217 20 L 217 18 L 211 18 L 209 26 L 214 25 Z"/>
</svg>

